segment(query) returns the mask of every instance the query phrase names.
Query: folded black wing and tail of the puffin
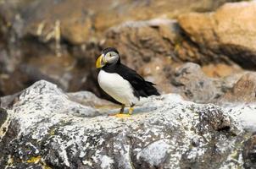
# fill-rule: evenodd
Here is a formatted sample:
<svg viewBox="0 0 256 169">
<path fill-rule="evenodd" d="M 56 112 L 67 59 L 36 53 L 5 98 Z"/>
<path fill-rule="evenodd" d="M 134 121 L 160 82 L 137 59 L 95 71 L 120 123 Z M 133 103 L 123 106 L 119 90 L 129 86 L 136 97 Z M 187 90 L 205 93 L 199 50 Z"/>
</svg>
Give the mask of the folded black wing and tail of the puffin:
<svg viewBox="0 0 256 169">
<path fill-rule="evenodd" d="M 154 84 L 143 79 L 135 70 L 120 63 L 116 65 L 115 72 L 131 83 L 131 86 L 135 90 L 134 94 L 137 97 L 160 95 L 158 90 L 153 86 Z"/>
</svg>

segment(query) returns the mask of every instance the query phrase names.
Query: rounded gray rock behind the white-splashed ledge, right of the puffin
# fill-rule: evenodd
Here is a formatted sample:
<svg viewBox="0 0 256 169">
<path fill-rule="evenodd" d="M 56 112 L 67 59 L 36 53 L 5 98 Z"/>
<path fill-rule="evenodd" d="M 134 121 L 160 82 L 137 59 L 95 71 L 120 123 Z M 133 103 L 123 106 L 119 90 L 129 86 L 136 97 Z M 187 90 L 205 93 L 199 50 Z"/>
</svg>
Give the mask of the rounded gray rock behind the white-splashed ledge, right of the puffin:
<svg viewBox="0 0 256 169">
<path fill-rule="evenodd" d="M 173 90 L 189 101 L 198 103 L 213 103 L 220 100 L 231 87 L 237 82 L 241 75 L 231 75 L 224 79 L 210 78 L 203 73 L 202 68 L 196 63 L 185 63 L 175 69 L 171 76 Z"/>
</svg>

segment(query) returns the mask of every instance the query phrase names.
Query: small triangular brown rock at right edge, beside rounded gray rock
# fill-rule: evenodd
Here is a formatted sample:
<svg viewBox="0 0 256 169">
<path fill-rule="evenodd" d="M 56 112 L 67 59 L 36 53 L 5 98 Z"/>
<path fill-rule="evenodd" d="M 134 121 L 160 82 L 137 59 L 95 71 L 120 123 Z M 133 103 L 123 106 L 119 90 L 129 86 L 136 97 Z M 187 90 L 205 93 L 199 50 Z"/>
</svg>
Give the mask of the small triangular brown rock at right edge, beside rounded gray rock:
<svg viewBox="0 0 256 169">
<path fill-rule="evenodd" d="M 225 93 L 220 102 L 255 102 L 256 101 L 256 74 L 244 74 L 233 88 Z"/>
</svg>

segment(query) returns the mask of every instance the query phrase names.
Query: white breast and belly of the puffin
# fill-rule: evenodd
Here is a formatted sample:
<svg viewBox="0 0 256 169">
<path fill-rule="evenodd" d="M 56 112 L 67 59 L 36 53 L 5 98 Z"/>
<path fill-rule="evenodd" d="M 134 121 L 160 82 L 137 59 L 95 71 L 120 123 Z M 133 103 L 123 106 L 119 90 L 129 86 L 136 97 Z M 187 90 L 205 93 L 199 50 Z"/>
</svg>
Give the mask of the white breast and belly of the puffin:
<svg viewBox="0 0 256 169">
<path fill-rule="evenodd" d="M 133 89 L 128 80 L 123 79 L 119 74 L 107 73 L 100 70 L 97 75 L 100 87 L 114 98 L 125 105 L 136 104 L 138 99 L 133 94 Z"/>
</svg>

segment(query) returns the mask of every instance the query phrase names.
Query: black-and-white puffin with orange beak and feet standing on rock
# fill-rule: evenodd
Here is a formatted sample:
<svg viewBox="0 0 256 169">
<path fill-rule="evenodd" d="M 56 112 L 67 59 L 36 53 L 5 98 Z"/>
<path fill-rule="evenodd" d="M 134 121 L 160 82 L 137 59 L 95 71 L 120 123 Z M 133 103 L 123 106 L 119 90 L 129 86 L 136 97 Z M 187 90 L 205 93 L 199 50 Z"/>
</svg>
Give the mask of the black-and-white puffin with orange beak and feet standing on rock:
<svg viewBox="0 0 256 169">
<path fill-rule="evenodd" d="M 160 95 L 155 84 L 121 63 L 120 54 L 114 47 L 103 49 L 102 54 L 97 57 L 96 68 L 100 68 L 98 85 L 121 104 L 120 112 L 112 116 L 130 117 L 140 97 Z M 125 106 L 130 106 L 128 114 L 124 113 Z"/>
</svg>

